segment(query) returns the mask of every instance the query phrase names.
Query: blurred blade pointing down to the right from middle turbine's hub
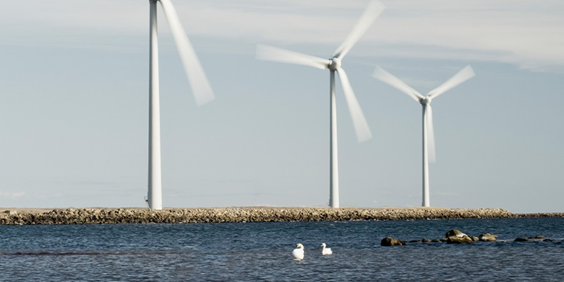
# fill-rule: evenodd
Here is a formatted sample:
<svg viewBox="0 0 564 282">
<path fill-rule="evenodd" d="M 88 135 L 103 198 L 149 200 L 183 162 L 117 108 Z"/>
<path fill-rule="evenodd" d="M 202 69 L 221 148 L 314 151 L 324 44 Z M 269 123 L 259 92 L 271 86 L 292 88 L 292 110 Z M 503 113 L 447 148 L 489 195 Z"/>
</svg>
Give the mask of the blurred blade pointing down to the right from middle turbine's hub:
<svg viewBox="0 0 564 282">
<path fill-rule="evenodd" d="M 366 118 L 364 118 L 364 114 L 362 114 L 362 109 L 360 109 L 355 92 L 353 92 L 353 87 L 350 87 L 347 74 L 343 68 L 337 68 L 337 73 L 339 74 L 341 85 L 343 86 L 343 92 L 345 93 L 345 99 L 347 100 L 350 117 L 353 118 L 353 125 L 355 125 L 358 142 L 360 143 L 369 140 L 372 138 L 372 133 L 370 133 L 370 128 L 368 127 Z"/>
</svg>

